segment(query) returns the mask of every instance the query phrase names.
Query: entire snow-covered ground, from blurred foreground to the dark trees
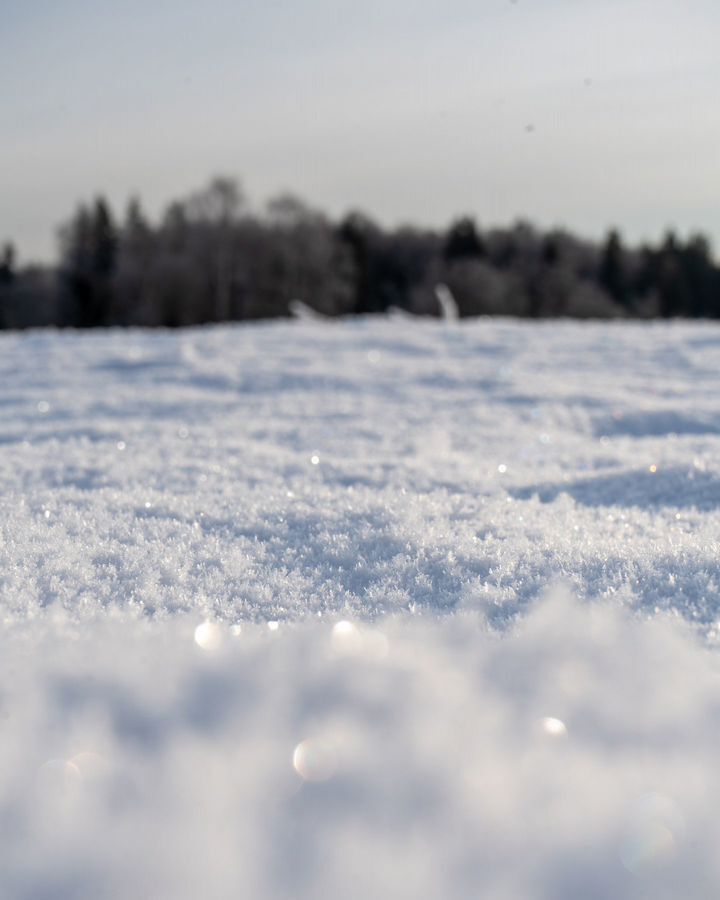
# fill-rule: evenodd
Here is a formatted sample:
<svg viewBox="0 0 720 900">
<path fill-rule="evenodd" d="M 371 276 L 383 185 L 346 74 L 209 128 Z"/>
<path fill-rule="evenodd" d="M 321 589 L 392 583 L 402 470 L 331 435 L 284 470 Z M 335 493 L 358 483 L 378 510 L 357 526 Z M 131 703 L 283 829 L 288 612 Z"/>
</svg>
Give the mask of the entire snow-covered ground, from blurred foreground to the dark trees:
<svg viewBox="0 0 720 900">
<path fill-rule="evenodd" d="M 719 364 L 0 337 L 2 900 L 715 896 Z"/>
</svg>

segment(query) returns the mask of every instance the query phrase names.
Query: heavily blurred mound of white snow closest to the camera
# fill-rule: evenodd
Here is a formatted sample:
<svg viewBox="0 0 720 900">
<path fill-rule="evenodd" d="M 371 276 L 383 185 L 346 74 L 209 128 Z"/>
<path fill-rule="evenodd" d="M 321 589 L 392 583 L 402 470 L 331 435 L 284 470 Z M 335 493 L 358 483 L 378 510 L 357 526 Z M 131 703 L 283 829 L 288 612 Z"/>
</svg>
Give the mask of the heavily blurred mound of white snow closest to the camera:
<svg viewBox="0 0 720 900">
<path fill-rule="evenodd" d="M 3 646 L 3 897 L 720 885 L 720 659 L 675 619 L 560 594 L 502 637 L 46 620 Z"/>
</svg>

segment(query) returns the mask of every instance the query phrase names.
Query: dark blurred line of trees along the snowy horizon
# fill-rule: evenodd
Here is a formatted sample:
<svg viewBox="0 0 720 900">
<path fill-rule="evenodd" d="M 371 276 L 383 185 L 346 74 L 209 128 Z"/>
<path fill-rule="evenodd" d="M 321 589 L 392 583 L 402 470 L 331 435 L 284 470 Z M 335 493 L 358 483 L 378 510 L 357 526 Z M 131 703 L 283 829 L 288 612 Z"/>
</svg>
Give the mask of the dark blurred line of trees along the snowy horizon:
<svg viewBox="0 0 720 900">
<path fill-rule="evenodd" d="M 0 328 L 179 327 L 398 308 L 530 318 L 720 318 L 720 268 L 702 235 L 669 232 L 626 247 L 527 222 L 444 231 L 382 228 L 360 212 L 333 221 L 292 195 L 253 211 L 238 183 L 215 178 L 152 222 L 138 199 L 118 218 L 82 204 L 59 231 L 54 267 L 0 250 Z"/>
</svg>

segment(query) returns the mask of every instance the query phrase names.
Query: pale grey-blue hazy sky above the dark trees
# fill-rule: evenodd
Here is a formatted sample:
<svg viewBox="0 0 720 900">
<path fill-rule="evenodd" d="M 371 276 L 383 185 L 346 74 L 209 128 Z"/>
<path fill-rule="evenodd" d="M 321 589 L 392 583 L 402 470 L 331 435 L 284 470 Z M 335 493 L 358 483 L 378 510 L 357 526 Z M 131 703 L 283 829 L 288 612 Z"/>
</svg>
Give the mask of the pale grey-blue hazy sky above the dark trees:
<svg viewBox="0 0 720 900">
<path fill-rule="evenodd" d="M 720 249 L 717 0 L 4 0 L 0 241 L 216 173 L 393 224 Z"/>
</svg>

